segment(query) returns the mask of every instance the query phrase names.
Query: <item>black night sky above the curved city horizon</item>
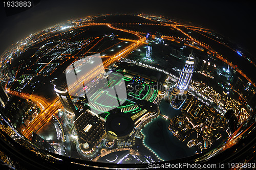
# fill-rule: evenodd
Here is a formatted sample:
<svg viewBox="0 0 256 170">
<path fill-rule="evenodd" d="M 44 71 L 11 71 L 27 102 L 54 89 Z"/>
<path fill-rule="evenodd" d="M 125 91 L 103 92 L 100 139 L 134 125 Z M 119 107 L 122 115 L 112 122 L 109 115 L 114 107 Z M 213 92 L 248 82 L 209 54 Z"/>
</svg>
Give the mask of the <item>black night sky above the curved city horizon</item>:
<svg viewBox="0 0 256 170">
<path fill-rule="evenodd" d="M 35 0 L 34 0 L 35 1 Z M 36 0 L 39 1 L 39 0 Z M 203 26 L 230 38 L 256 57 L 255 1 L 81 1 L 41 0 L 33 8 L 6 16 L 0 6 L 0 53 L 12 43 L 72 18 L 107 13 L 147 13 L 176 18 Z M 255 41 L 255 39 L 254 39 Z"/>
</svg>

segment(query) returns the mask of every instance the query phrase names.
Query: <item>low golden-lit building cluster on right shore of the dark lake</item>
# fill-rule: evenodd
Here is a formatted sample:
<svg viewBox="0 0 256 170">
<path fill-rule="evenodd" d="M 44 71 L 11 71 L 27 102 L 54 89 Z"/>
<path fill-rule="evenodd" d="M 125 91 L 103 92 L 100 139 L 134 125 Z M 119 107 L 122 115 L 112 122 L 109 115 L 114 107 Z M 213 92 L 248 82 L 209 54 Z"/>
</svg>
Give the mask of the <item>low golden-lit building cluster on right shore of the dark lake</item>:
<svg viewBox="0 0 256 170">
<path fill-rule="evenodd" d="M 215 109 L 208 107 L 190 96 L 184 103 L 182 115 L 170 119 L 169 130 L 181 141 L 184 141 L 191 133 L 197 132 L 197 138 L 188 141 L 189 147 L 197 146 L 201 152 L 209 149 L 219 139 L 212 135 L 212 131 L 224 130 L 227 126 L 226 119 Z"/>
</svg>

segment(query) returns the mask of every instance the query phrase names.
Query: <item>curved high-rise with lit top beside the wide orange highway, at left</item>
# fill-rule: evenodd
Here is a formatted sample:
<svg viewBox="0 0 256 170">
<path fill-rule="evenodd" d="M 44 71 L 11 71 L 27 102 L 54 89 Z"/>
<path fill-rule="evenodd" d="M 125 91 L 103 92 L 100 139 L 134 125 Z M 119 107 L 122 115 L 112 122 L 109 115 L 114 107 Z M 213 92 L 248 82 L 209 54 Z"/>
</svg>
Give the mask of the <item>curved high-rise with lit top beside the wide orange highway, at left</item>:
<svg viewBox="0 0 256 170">
<path fill-rule="evenodd" d="M 75 114 L 77 116 L 77 111 L 75 109 L 75 106 L 70 98 L 69 92 L 67 89 L 63 87 L 59 87 L 54 85 L 54 91 L 56 92 L 57 96 L 59 97 L 59 100 L 64 107 L 64 109 L 71 113 Z"/>
</svg>

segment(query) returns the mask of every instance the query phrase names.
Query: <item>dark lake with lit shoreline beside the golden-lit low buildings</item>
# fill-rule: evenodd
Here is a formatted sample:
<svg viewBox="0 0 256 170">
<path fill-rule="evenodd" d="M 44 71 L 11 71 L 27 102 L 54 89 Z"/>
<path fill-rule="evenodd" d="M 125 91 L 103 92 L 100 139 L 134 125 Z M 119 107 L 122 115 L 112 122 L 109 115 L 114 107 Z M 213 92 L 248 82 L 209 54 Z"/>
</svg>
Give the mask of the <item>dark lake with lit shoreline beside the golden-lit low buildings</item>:
<svg viewBox="0 0 256 170">
<path fill-rule="evenodd" d="M 173 109 L 164 100 L 161 101 L 160 111 L 161 114 L 167 115 L 169 118 L 181 114 L 180 110 Z M 196 139 L 196 133 L 193 132 L 186 140 L 181 142 L 168 130 L 169 123 L 169 120 L 158 116 L 147 124 L 142 129 L 142 133 L 145 135 L 144 144 L 163 160 L 173 160 L 194 155 L 196 148 L 187 147 L 187 142 L 191 139 Z"/>
</svg>

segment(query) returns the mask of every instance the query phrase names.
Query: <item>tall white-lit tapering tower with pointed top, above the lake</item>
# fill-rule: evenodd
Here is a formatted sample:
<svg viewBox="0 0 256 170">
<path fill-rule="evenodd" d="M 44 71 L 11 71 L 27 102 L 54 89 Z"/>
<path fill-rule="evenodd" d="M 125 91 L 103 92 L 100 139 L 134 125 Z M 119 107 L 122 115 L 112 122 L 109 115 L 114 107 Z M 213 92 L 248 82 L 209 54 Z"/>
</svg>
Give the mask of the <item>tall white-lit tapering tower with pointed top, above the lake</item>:
<svg viewBox="0 0 256 170">
<path fill-rule="evenodd" d="M 189 55 L 185 67 L 182 69 L 177 86 L 172 91 L 172 95 L 183 95 L 187 93 L 187 87 L 193 75 L 195 58 Z"/>
</svg>

